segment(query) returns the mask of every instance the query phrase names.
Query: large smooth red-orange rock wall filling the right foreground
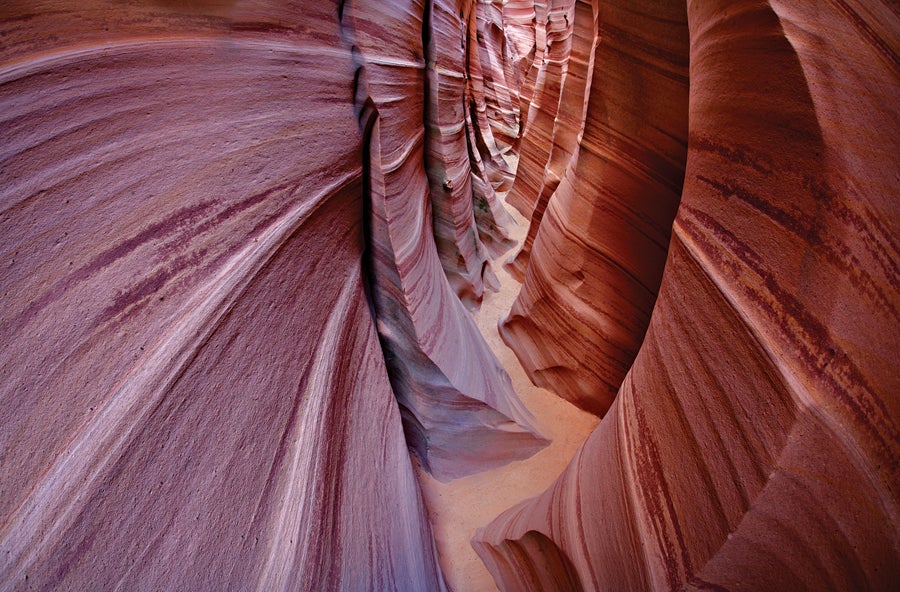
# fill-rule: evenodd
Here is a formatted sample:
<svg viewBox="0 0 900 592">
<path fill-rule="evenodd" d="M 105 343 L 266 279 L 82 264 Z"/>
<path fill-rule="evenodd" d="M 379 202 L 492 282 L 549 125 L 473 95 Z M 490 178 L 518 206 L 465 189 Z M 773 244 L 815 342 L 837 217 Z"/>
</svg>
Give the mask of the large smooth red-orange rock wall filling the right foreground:
<svg viewBox="0 0 900 592">
<path fill-rule="evenodd" d="M 638 6 L 601 2 L 598 63 L 603 23 Z M 474 545 L 503 590 L 895 590 L 900 15 L 690 2 L 687 25 L 684 192 L 646 337 L 553 487 Z M 554 203 L 529 271 L 574 224 L 547 225 Z"/>
</svg>

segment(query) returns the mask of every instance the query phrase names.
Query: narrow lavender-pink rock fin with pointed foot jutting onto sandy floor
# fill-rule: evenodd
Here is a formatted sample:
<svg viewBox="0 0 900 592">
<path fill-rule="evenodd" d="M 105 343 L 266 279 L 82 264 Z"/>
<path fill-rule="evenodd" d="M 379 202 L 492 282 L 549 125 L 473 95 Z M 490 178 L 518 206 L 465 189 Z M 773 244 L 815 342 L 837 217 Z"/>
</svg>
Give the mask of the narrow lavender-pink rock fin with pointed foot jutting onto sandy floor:
<svg viewBox="0 0 900 592">
<path fill-rule="evenodd" d="M 448 480 L 530 456 L 547 442 L 441 269 L 423 166 L 426 6 L 412 3 L 407 14 L 409 22 L 397 23 L 390 6 L 344 6 L 359 61 L 378 332 L 412 451 Z"/>
</svg>

